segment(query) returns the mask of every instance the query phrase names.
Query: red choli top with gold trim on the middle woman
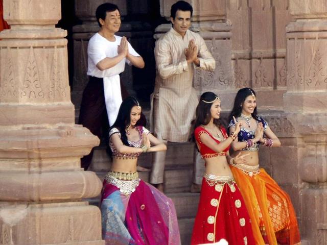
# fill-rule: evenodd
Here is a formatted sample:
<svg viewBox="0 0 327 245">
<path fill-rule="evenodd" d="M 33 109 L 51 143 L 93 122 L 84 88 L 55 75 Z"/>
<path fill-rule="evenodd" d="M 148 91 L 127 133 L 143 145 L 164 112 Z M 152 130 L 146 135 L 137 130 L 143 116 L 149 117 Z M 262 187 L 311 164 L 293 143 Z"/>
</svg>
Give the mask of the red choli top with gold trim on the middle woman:
<svg viewBox="0 0 327 245">
<path fill-rule="evenodd" d="M 220 127 L 220 130 L 224 136 L 224 139 L 228 137 L 226 130 L 224 127 Z M 228 152 L 230 145 L 228 145 L 228 147 L 223 151 L 223 152 L 215 152 L 214 150 L 212 150 L 211 148 L 209 148 L 208 146 L 206 146 L 204 143 L 202 143 L 201 139 L 200 139 L 200 135 L 201 134 L 207 134 L 209 135 L 212 139 L 214 139 L 218 144 L 220 143 L 220 141 L 218 139 L 216 139 L 211 133 L 209 133 L 208 131 L 206 131 L 202 126 L 197 127 L 194 130 L 194 136 L 196 139 L 196 144 L 198 146 L 198 149 L 201 153 L 202 158 L 209 158 L 209 157 L 217 157 L 217 156 L 225 156 L 226 152 Z"/>
</svg>

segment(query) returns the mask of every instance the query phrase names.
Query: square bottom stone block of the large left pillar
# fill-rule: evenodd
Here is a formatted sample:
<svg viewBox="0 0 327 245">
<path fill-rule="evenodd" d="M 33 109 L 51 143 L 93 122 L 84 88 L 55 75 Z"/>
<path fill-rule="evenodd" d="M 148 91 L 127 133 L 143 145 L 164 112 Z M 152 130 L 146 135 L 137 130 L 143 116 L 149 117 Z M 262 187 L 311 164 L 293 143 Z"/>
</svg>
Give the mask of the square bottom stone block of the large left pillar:
<svg viewBox="0 0 327 245">
<path fill-rule="evenodd" d="M 55 185 L 55 183 L 54 183 Z M 101 214 L 88 202 L 0 203 L 1 244 L 104 245 Z"/>
</svg>

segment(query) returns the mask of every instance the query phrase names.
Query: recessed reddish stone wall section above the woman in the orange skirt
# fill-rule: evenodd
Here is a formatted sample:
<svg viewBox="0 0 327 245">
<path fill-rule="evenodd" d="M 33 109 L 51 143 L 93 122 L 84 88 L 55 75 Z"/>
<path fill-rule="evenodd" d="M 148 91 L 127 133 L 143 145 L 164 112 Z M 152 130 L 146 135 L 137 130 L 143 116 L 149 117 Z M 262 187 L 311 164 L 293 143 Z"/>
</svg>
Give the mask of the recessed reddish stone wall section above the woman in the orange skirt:
<svg viewBox="0 0 327 245">
<path fill-rule="evenodd" d="M 291 21 L 289 0 L 227 3 L 235 86 L 253 88 L 261 110 L 282 110 L 286 90 L 285 26 Z"/>
</svg>

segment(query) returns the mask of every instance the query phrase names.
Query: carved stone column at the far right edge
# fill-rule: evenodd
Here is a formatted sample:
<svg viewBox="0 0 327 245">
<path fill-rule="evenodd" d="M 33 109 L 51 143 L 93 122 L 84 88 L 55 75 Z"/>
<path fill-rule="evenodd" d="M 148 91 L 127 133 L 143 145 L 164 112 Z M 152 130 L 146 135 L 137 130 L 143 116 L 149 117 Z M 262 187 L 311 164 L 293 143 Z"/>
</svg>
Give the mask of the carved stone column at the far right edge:
<svg viewBox="0 0 327 245">
<path fill-rule="evenodd" d="M 327 243 L 327 3 L 290 0 L 284 110 L 296 128 L 301 235 Z"/>
</svg>

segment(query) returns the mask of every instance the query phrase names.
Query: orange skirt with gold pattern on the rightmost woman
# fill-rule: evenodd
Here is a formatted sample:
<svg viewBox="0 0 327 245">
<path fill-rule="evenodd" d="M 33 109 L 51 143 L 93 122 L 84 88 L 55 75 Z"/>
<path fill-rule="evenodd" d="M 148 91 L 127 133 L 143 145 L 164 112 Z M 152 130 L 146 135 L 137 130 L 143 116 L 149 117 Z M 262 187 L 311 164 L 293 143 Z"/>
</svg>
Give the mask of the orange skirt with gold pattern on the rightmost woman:
<svg viewBox="0 0 327 245">
<path fill-rule="evenodd" d="M 230 166 L 251 218 L 256 244 L 300 244 L 295 211 L 289 195 L 260 168 L 254 175 Z"/>
</svg>

